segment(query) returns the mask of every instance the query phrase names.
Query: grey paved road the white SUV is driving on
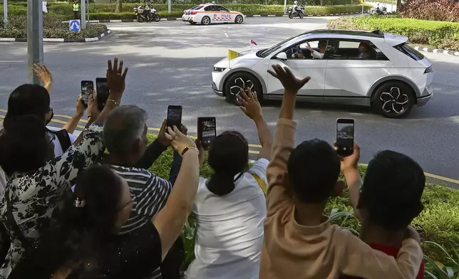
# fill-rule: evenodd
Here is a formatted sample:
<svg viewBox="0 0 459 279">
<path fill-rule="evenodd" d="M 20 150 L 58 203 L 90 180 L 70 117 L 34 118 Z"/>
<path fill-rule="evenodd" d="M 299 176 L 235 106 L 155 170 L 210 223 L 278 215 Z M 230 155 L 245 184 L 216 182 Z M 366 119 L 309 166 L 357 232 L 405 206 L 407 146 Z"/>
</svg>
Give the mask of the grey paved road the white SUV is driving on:
<svg viewBox="0 0 459 279">
<path fill-rule="evenodd" d="M 324 28 L 328 18 L 255 18 L 240 26 L 191 26 L 182 22 L 110 23 L 113 35 L 96 43 L 46 43 L 44 60 L 53 71 L 55 113 L 71 115 L 80 80 L 104 75 L 108 58 L 119 56 L 130 67 L 128 93 L 123 102 L 143 107 L 150 127 L 159 127 L 170 104 L 183 105 L 184 122 L 196 131 L 196 117 L 215 115 L 219 132 L 237 129 L 249 142 L 258 143 L 254 125 L 237 107 L 227 105 L 211 90 L 212 65 L 227 56 L 228 48 L 248 49 L 251 39 L 259 46 L 314 28 Z M 356 140 L 362 162 L 375 152 L 393 149 L 416 158 L 426 172 L 459 179 L 459 58 L 429 53 L 433 60 L 435 96 L 425 107 L 415 108 L 403 120 L 387 120 L 359 107 L 300 105 L 298 140 L 318 137 L 332 142 L 338 117 L 356 120 Z M 0 43 L 0 108 L 6 109 L 9 93 L 26 82 L 25 43 Z M 279 102 L 264 113 L 274 128 Z"/>
</svg>

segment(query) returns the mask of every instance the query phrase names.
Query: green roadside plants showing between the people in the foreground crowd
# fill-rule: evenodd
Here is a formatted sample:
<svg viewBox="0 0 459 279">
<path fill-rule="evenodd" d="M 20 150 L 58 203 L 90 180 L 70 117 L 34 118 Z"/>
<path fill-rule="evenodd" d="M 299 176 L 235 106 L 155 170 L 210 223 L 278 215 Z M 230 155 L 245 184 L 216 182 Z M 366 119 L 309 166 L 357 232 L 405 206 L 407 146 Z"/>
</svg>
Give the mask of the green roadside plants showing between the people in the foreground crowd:
<svg viewBox="0 0 459 279">
<path fill-rule="evenodd" d="M 148 135 L 150 142 L 155 138 L 155 135 Z M 172 151 L 170 149 L 164 152 L 158 159 L 151 170 L 160 177 L 168 178 L 170 163 L 172 162 Z M 360 167 L 361 174 L 364 175 L 366 168 Z M 201 167 L 201 177 L 210 177 L 212 170 L 205 163 Z M 341 179 L 344 177 L 341 176 Z M 413 221 L 413 226 L 419 231 L 423 241 L 433 241 L 443 246 L 446 251 L 452 252 L 453 248 L 459 246 L 459 191 L 450 189 L 446 186 L 428 183 L 423 194 L 423 204 L 425 206 L 423 212 L 418 218 Z M 352 212 L 352 206 L 349 201 L 349 194 L 346 193 L 342 197 L 331 199 L 327 205 L 326 214 L 330 214 L 333 209 L 339 211 Z M 352 212 L 352 214 L 354 214 Z M 355 218 L 349 218 L 349 214 L 344 219 L 336 219 L 334 223 L 340 226 L 353 228 L 359 231 L 360 224 Z M 184 228 L 182 236 L 185 241 L 186 258 L 185 266 L 194 258 L 194 232 L 195 221 L 190 216 L 189 222 Z M 438 262 L 448 265 L 448 259 L 445 258 L 444 252 L 440 248 L 423 243 L 423 252 L 429 258 L 433 258 Z M 459 259 L 457 259 L 459 260 Z M 433 271 L 433 266 L 428 266 L 428 270 Z"/>
</svg>

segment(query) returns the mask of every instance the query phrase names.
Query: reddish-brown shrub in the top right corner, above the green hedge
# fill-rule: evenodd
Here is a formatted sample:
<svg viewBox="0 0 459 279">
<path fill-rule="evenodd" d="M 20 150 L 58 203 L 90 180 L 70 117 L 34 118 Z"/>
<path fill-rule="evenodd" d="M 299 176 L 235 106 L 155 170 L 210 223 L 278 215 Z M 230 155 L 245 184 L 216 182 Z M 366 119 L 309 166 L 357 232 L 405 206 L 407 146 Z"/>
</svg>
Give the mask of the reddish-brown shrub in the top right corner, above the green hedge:
<svg viewBox="0 0 459 279">
<path fill-rule="evenodd" d="M 398 11 L 412 19 L 459 22 L 459 6 L 451 0 L 408 0 Z"/>
</svg>

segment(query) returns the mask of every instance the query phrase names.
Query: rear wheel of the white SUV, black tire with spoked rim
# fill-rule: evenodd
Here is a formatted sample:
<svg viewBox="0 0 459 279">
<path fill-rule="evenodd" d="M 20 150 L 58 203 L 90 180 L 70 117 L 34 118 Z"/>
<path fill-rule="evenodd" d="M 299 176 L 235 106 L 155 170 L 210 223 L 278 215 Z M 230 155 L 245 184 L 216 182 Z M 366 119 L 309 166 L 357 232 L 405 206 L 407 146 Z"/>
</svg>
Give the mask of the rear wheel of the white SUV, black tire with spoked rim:
<svg viewBox="0 0 459 279">
<path fill-rule="evenodd" d="M 403 118 L 411 112 L 416 98 L 413 89 L 400 81 L 389 81 L 373 93 L 371 105 L 387 118 Z"/>
</svg>

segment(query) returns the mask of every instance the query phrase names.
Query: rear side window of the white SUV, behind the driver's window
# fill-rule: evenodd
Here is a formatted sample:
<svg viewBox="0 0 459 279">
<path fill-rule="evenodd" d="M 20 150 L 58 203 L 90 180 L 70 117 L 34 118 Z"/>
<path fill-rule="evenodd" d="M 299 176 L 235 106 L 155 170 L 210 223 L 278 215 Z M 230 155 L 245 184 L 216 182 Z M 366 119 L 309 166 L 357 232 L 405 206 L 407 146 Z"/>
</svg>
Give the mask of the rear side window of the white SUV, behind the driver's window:
<svg viewBox="0 0 459 279">
<path fill-rule="evenodd" d="M 330 53 L 332 60 L 388 60 L 371 41 L 342 39 Z"/>
</svg>

